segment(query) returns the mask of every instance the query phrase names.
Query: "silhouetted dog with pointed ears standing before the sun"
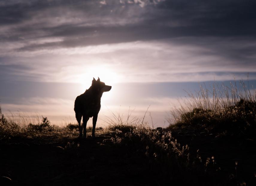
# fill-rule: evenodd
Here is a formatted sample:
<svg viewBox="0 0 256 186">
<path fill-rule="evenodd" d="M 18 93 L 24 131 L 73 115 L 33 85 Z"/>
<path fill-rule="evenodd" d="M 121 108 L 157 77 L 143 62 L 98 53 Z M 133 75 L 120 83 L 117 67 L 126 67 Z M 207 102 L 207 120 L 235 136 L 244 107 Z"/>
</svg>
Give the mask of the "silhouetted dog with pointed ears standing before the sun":
<svg viewBox="0 0 256 186">
<path fill-rule="evenodd" d="M 86 138 L 86 124 L 91 117 L 93 117 L 92 137 L 95 138 L 95 127 L 101 108 L 100 100 L 103 92 L 108 92 L 111 88 L 112 86 L 105 85 L 104 82 L 101 82 L 99 77 L 97 81 L 95 78 L 93 78 L 92 86 L 90 86 L 90 88 L 86 90 L 84 94 L 76 97 L 74 110 L 75 118 L 79 127 L 79 138 Z M 82 131 L 83 129 L 81 127 L 82 116 L 84 132 Z"/>
</svg>

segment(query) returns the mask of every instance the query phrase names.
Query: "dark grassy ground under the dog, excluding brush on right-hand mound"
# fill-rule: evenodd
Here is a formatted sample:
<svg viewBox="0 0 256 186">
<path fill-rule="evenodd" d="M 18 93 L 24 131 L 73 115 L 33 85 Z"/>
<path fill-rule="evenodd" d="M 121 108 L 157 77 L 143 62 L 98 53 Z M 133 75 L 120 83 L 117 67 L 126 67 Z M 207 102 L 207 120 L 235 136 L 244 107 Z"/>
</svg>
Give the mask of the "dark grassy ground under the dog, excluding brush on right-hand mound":
<svg viewBox="0 0 256 186">
<path fill-rule="evenodd" d="M 75 125 L 19 128 L 4 119 L 1 185 L 255 185 L 255 135 L 244 132 L 116 124 L 85 140 Z"/>
</svg>

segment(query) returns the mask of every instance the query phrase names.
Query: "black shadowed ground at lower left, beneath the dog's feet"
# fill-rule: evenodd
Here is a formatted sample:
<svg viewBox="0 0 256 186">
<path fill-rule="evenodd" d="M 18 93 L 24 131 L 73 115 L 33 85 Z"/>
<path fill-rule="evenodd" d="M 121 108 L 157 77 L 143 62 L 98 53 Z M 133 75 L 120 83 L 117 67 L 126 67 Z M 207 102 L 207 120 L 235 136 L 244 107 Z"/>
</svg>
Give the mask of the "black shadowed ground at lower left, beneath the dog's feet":
<svg viewBox="0 0 256 186">
<path fill-rule="evenodd" d="M 1 175 L 13 185 L 157 184 L 146 159 L 112 144 L 110 136 L 11 138 L 0 149 Z"/>
</svg>

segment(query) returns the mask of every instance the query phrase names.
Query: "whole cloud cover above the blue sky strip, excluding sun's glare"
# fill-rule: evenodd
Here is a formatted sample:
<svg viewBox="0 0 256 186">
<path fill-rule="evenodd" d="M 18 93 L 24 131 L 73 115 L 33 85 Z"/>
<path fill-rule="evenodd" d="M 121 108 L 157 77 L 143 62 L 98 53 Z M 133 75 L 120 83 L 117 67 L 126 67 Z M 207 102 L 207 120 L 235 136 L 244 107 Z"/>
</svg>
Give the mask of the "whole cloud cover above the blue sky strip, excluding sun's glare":
<svg viewBox="0 0 256 186">
<path fill-rule="evenodd" d="M 1 1 L 1 77 L 77 82 L 88 66 L 102 65 L 130 82 L 211 80 L 219 72 L 226 80 L 254 72 L 254 4 Z"/>
</svg>

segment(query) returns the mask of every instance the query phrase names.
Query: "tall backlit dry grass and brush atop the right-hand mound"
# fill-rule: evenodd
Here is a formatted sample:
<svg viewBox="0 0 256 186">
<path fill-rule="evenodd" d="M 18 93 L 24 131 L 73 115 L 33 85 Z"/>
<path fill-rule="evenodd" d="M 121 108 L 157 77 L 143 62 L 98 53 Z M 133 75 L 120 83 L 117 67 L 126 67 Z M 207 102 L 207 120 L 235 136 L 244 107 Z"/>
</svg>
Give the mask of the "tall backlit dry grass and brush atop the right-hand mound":
<svg viewBox="0 0 256 186">
<path fill-rule="evenodd" d="M 256 92 L 249 80 L 235 80 L 230 86 L 213 83 L 210 89 L 201 84 L 200 91 L 187 94 L 179 100 L 180 108 L 171 111 L 168 128 L 201 125 L 236 134 L 256 132 Z"/>
</svg>

